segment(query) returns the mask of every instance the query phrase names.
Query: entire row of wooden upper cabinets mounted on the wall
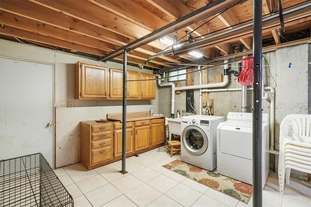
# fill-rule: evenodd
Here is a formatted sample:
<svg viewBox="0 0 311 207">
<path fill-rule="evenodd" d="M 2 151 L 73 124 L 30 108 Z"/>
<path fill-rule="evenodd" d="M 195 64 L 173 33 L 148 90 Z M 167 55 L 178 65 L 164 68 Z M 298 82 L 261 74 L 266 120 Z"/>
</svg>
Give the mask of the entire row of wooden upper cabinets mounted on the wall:
<svg viewBox="0 0 311 207">
<path fill-rule="evenodd" d="M 155 99 L 155 75 L 126 71 L 126 98 Z M 152 79 L 152 80 L 150 80 Z M 142 80 L 142 81 L 140 81 Z M 123 70 L 104 65 L 75 64 L 76 99 L 122 99 Z"/>
</svg>

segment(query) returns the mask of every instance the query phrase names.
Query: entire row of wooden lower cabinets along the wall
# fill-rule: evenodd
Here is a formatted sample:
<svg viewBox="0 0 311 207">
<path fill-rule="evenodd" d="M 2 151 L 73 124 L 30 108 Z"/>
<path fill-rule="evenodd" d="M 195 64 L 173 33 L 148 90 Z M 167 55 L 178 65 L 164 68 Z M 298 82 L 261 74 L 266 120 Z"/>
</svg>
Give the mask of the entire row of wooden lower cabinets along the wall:
<svg viewBox="0 0 311 207">
<path fill-rule="evenodd" d="M 139 112 L 138 114 L 133 112 L 134 114 L 137 116 Z M 126 122 L 126 157 L 155 149 L 165 142 L 164 117 L 151 117 L 149 111 L 143 115 L 145 115 L 143 120 Z M 121 118 L 109 119 L 107 116 L 107 119 L 111 122 L 107 120 L 80 122 L 80 162 L 88 170 L 121 159 L 123 135 Z"/>
</svg>

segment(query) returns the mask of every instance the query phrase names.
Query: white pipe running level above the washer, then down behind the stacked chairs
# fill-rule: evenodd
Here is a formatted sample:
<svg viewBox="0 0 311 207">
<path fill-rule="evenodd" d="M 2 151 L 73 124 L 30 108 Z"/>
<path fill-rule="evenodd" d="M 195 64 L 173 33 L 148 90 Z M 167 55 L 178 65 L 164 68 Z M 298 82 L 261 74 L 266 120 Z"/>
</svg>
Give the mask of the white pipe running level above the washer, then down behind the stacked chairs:
<svg viewBox="0 0 311 207">
<path fill-rule="evenodd" d="M 221 88 L 221 89 L 201 89 L 201 92 L 225 92 L 225 91 L 241 91 L 242 88 Z M 246 90 L 253 90 L 253 88 L 247 88 Z M 275 89 L 271 86 L 264 87 L 264 90 L 269 90 L 262 97 L 263 99 L 270 98 L 270 111 L 269 111 L 269 130 L 270 130 L 270 153 L 277 154 L 275 150 L 275 136 L 274 136 L 274 127 L 275 127 Z"/>
</svg>

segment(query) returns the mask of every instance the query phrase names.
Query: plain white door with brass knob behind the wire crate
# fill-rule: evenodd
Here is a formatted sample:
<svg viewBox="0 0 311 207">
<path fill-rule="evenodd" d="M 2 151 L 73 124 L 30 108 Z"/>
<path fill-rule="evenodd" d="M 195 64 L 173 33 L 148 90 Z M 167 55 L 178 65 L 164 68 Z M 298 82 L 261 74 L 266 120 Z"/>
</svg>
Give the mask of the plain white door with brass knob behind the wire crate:
<svg viewBox="0 0 311 207">
<path fill-rule="evenodd" d="M 0 58 L 0 160 L 38 152 L 53 167 L 53 65 Z"/>
</svg>

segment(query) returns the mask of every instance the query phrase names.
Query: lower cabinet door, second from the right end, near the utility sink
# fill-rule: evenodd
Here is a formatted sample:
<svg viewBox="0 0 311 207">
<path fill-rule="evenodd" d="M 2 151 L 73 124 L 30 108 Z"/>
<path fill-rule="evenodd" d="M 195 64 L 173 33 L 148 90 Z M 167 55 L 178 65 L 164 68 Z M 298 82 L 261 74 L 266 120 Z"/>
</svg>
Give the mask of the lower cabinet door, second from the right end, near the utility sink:
<svg viewBox="0 0 311 207">
<path fill-rule="evenodd" d="M 149 125 L 135 127 L 135 152 L 150 146 Z"/>
</svg>

